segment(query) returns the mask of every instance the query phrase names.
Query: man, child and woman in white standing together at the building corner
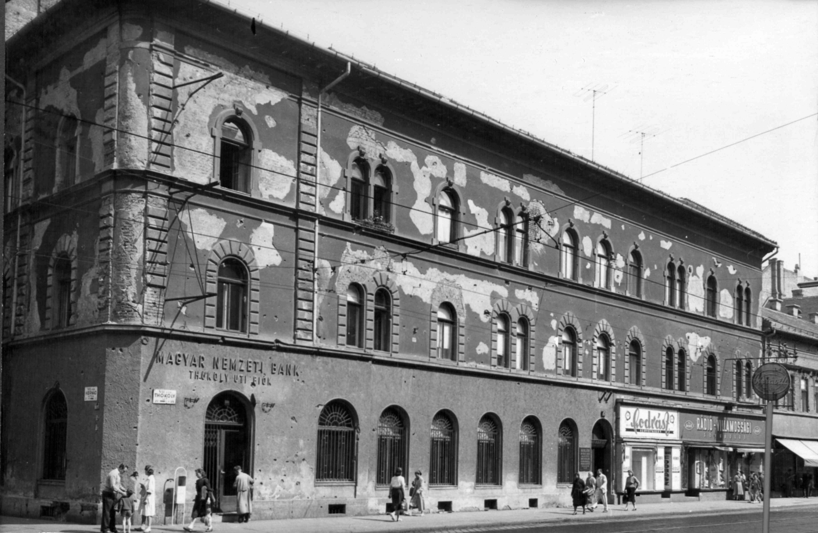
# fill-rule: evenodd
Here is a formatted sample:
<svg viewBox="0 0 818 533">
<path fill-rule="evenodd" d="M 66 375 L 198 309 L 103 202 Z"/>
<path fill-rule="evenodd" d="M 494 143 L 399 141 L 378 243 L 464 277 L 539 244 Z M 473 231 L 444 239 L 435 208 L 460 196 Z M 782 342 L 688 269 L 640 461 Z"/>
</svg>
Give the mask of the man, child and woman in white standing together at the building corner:
<svg viewBox="0 0 818 533">
<path fill-rule="evenodd" d="M 142 516 L 142 526 L 133 528 L 133 531 L 150 533 L 151 522 L 156 514 L 155 493 L 156 480 L 154 470 L 150 464 L 145 467 L 145 476 L 139 479 L 139 473 L 134 471 L 131 476 L 131 485 L 128 488 L 122 484 L 122 476 L 128 471 L 128 466 L 120 463 L 119 467 L 111 470 L 106 476 L 105 486 L 102 487 L 102 533 L 117 533 L 116 515 L 122 515 L 124 533 L 130 533 L 133 515 Z M 139 487 L 137 492 L 136 487 Z"/>
</svg>

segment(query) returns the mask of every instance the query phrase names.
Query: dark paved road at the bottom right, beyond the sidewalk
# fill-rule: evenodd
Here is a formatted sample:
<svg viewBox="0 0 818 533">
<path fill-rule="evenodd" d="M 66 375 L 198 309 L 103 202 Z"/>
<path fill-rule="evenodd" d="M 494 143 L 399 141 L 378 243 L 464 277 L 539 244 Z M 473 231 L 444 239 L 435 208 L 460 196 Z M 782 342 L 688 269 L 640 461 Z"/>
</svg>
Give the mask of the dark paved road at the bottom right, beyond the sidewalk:
<svg viewBox="0 0 818 533">
<path fill-rule="evenodd" d="M 582 521 L 571 523 L 515 524 L 486 528 L 442 529 L 441 533 L 761 533 L 761 509 L 747 513 L 709 514 L 706 516 L 676 515 L 668 517 L 608 520 L 605 514 L 586 515 Z M 784 508 L 771 513 L 771 533 L 818 533 L 818 505 L 808 508 Z"/>
</svg>

